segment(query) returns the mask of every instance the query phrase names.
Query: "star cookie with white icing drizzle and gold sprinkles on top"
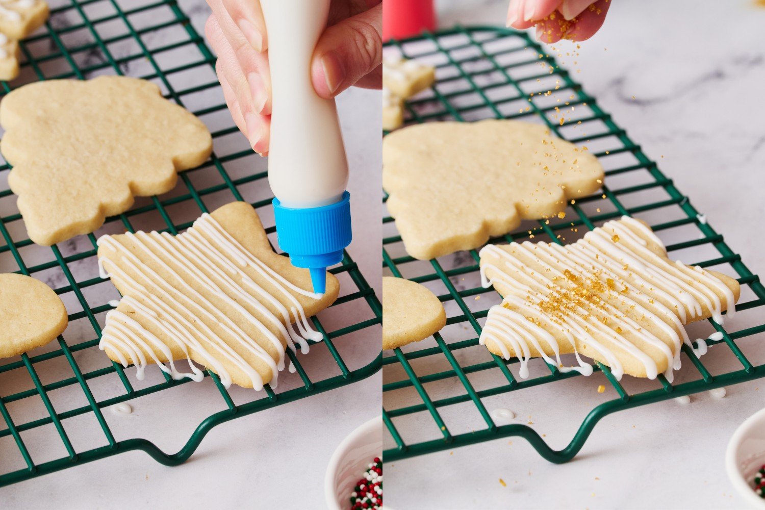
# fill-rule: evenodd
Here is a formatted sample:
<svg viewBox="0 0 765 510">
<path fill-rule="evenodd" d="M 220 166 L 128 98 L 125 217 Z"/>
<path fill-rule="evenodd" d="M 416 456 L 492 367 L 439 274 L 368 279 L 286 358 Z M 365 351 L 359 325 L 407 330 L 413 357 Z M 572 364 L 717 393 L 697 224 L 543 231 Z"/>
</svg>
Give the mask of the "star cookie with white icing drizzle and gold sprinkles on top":
<svg viewBox="0 0 765 510">
<path fill-rule="evenodd" d="M 480 251 L 483 286 L 503 296 L 489 310 L 480 343 L 504 359 L 542 357 L 562 372 L 590 375 L 581 356 L 623 374 L 656 378 L 680 368 L 687 323 L 735 311 L 734 278 L 668 258 L 640 220 L 623 216 L 570 245 L 513 242 Z M 574 353 L 577 366 L 560 355 Z M 581 356 L 580 356 L 581 355 Z"/>
</svg>

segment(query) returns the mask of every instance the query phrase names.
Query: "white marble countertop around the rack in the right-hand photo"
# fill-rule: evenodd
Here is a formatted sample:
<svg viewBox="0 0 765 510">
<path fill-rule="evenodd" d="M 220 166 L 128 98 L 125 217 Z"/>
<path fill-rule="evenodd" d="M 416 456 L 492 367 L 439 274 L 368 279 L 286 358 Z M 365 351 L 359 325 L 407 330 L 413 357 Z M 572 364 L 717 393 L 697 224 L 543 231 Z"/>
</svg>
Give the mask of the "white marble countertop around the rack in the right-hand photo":
<svg viewBox="0 0 765 510">
<path fill-rule="evenodd" d="M 503 25 L 506 3 L 440 0 L 441 25 Z M 754 3 L 614 0 L 604 28 L 581 44 L 575 79 L 763 274 L 765 109 L 757 91 L 765 83 L 765 8 Z M 581 391 L 589 395 L 597 384 L 583 382 Z M 551 388 L 508 397 L 502 407 L 519 415 L 516 423 L 533 415 L 535 430 L 562 448 L 593 404 L 575 412 L 546 395 Z M 763 390 L 765 382 L 751 382 L 729 387 L 721 400 L 705 393 L 685 406 L 666 401 L 612 414 L 563 465 L 519 438 L 395 462 L 386 465 L 386 502 L 398 509 L 742 508 L 724 450 L 741 421 L 765 405 Z"/>
</svg>

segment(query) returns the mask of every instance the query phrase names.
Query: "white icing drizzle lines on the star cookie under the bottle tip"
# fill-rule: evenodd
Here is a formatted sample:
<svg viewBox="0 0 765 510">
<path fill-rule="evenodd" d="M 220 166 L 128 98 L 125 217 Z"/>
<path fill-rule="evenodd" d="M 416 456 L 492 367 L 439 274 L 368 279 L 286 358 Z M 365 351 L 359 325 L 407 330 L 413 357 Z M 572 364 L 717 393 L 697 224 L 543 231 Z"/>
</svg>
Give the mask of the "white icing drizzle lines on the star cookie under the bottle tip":
<svg viewBox="0 0 765 510">
<path fill-rule="evenodd" d="M 220 377 L 226 388 L 232 381 L 221 360 L 244 372 L 253 388 L 262 389 L 261 375 L 237 349 L 233 349 L 237 346 L 239 351 L 248 352 L 269 366 L 272 371 L 271 384 L 276 387 L 278 371 L 285 365 L 282 339 L 293 352 L 297 343 L 303 353 L 308 352 L 307 340 L 322 339 L 321 333 L 313 330 L 303 307 L 290 291 L 313 299 L 321 296 L 292 284 L 269 268 L 244 249 L 209 214 L 203 214 L 187 232 L 179 236 L 171 236 L 167 232 L 136 232 L 125 236 L 135 245 L 140 256 L 112 236 L 102 236 L 98 240 L 99 247 L 103 246 L 113 253 L 99 257 L 99 275 L 101 278 L 116 278 L 125 294 L 121 301 L 109 301 L 109 305 L 127 305 L 124 311 L 110 310 L 106 314 L 106 327 L 99 347 L 114 352 L 123 366 L 135 365 L 138 379 L 144 378 L 148 364 L 144 352 L 148 352 L 151 361 L 172 378 L 201 381 L 204 373 L 191 361 L 190 353 L 193 351 L 200 362 L 203 360 L 204 365 Z M 117 257 L 119 263 L 116 262 Z M 265 291 L 243 271 L 244 268 L 256 271 L 273 285 L 276 295 Z M 272 344 L 277 358 L 274 359 L 200 291 L 213 295 L 255 326 L 259 334 Z M 283 302 L 288 304 L 289 310 Z M 272 313 L 265 307 L 266 303 L 278 313 Z M 267 323 L 275 326 L 278 336 L 248 308 L 257 310 Z M 292 326 L 292 317 L 295 317 L 297 331 Z M 140 323 L 135 319 L 140 319 Z M 175 367 L 171 346 L 146 330 L 142 323 L 161 331 L 164 338 L 171 339 L 172 344 L 181 349 L 190 366 L 190 373 Z M 207 324 L 215 324 L 219 333 Z M 200 339 L 207 342 L 200 342 Z M 292 366 L 290 371 L 294 371 Z"/>
</svg>

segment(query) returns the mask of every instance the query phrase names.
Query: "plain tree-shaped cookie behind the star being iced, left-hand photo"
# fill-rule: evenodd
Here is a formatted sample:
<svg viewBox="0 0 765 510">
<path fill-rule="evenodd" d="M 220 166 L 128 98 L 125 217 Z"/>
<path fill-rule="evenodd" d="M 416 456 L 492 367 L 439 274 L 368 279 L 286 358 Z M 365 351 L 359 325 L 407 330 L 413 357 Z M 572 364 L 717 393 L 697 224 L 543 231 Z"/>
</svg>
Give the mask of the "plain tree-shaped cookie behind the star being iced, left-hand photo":
<svg viewBox="0 0 765 510">
<path fill-rule="evenodd" d="M 8 184 L 39 245 L 93 232 L 134 196 L 171 190 L 178 171 L 212 151 L 199 119 L 125 76 L 22 86 L 0 102 L 0 124 Z"/>
</svg>

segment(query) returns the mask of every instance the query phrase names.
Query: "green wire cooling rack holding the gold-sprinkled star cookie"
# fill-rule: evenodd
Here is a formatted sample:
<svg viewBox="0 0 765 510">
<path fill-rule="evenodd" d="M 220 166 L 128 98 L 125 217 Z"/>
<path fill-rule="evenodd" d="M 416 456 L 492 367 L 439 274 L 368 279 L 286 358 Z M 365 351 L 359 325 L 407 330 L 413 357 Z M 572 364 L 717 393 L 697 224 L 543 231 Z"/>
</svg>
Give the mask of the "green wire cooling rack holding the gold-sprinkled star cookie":
<svg viewBox="0 0 765 510">
<path fill-rule="evenodd" d="M 581 450 L 595 425 L 608 414 L 765 376 L 765 364 L 752 361 L 757 356 L 765 361 L 761 345 L 765 341 L 765 288 L 760 279 L 659 171 L 656 162 L 643 154 L 640 145 L 548 54 L 566 59 L 566 50 L 542 49 L 525 33 L 457 27 L 393 41 L 386 51 L 437 69 L 437 83 L 432 89 L 407 103 L 407 122 L 487 118 L 542 122 L 558 137 L 588 146 L 604 165 L 607 177 L 601 191 L 572 201 L 565 219 L 526 222 L 516 232 L 490 242 L 531 238 L 573 242 L 609 219 L 636 216 L 648 221 L 665 241 L 670 240 L 666 244 L 672 258 L 682 256 L 682 260 L 705 268 L 737 274 L 741 284 L 737 315 L 725 328 L 711 320 L 689 326 L 690 334 L 706 329 L 704 336 L 718 331 L 722 339 L 708 341 L 711 352 L 704 358 L 709 360 L 707 365 L 683 346 L 683 366 L 675 372 L 672 384 L 663 375 L 654 381 L 630 376 L 617 381 L 607 366 L 597 363 L 591 376 L 596 380 L 591 382 L 578 372 L 561 373 L 542 359 L 532 360 L 538 363 L 535 372 L 519 379 L 517 359 L 493 356 L 478 343 L 487 311 L 500 302 L 500 297 L 493 289 L 480 286 L 477 251 L 417 261 L 406 254 L 393 219 L 384 218 L 382 256 L 386 272 L 430 287 L 448 315 L 447 326 L 440 333 L 386 352 L 382 359 L 386 462 L 519 436 L 546 460 L 564 463 Z M 568 56 L 569 60 L 575 58 Z M 724 369 L 718 366 L 721 359 L 728 363 Z M 594 388 L 599 382 L 606 391 L 598 388 L 604 395 L 593 398 L 598 395 Z M 524 394 L 534 395 L 524 402 L 536 411 L 549 406 L 558 395 L 564 395 L 558 398 L 562 408 L 567 405 L 560 402 L 562 399 L 585 401 L 584 419 L 567 446 L 555 450 L 549 439 L 543 439 L 545 434 L 531 426 L 535 422 L 525 424 L 525 417 L 511 424 L 495 423 L 487 411 L 487 401 L 506 404 Z M 570 421 L 552 412 L 552 420 L 558 424 Z M 568 440 L 568 436 L 563 439 Z"/>
</svg>

